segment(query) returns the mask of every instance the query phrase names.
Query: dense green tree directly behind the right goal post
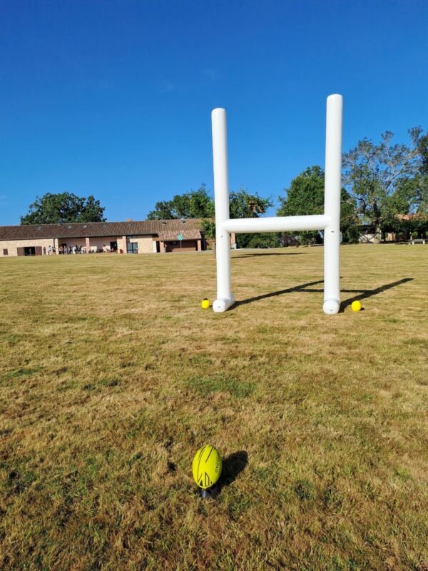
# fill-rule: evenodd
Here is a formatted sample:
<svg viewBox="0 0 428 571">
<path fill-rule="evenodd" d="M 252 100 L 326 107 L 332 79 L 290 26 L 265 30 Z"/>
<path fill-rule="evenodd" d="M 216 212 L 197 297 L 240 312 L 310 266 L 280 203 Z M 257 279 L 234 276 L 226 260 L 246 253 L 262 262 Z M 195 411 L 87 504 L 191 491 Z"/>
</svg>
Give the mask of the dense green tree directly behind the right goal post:
<svg viewBox="0 0 428 571">
<path fill-rule="evenodd" d="M 277 216 L 310 216 L 324 213 L 324 171 L 320 166 L 310 166 L 293 178 L 290 188 L 285 189 L 286 196 L 280 196 L 280 208 Z M 358 238 L 358 218 L 355 202 L 342 188 L 340 208 L 340 231 L 344 241 L 354 242 Z M 318 231 L 297 233 L 300 242 L 315 243 L 321 241 Z"/>
</svg>

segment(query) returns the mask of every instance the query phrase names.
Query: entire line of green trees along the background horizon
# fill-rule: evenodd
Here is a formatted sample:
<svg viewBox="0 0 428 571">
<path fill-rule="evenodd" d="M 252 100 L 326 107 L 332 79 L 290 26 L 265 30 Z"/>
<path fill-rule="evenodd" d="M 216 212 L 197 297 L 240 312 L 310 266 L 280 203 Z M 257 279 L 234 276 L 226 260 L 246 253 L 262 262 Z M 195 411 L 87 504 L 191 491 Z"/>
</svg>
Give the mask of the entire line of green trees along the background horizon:
<svg viewBox="0 0 428 571">
<path fill-rule="evenodd" d="M 393 142 L 393 133 L 382 133 L 379 143 L 364 138 L 342 155 L 341 231 L 343 241 L 356 242 L 362 232 L 382 241 L 387 233 L 397 237 L 424 237 L 428 232 L 428 134 L 421 127 L 409 129 L 409 144 Z M 277 216 L 305 216 L 324 211 L 324 178 L 320 166 L 297 175 L 278 196 Z M 245 188 L 230 192 L 230 217 L 263 216 L 273 208 L 272 198 Z M 30 205 L 21 224 L 105 221 L 105 208 L 93 196 L 46 193 Z M 214 201 L 205 185 L 195 191 L 159 201 L 148 220 L 203 218 L 203 231 L 214 238 Z M 287 241 L 275 233 L 239 234 L 238 247 L 272 247 Z M 292 236 L 300 243 L 322 241 L 319 232 Z"/>
</svg>

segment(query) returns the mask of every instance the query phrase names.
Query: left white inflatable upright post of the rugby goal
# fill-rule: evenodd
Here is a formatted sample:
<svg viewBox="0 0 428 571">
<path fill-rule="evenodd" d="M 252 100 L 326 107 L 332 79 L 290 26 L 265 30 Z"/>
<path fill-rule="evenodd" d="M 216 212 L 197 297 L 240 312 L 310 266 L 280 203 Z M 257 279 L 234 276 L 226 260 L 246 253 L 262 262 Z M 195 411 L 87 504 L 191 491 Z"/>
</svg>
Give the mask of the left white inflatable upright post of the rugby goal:
<svg viewBox="0 0 428 571">
<path fill-rule="evenodd" d="M 228 138 L 226 111 L 214 109 L 211 113 L 213 125 L 213 166 L 215 196 L 215 254 L 217 258 L 217 299 L 213 310 L 222 312 L 235 303 L 230 285 L 230 234 L 223 227 L 229 219 L 228 184 Z"/>
</svg>

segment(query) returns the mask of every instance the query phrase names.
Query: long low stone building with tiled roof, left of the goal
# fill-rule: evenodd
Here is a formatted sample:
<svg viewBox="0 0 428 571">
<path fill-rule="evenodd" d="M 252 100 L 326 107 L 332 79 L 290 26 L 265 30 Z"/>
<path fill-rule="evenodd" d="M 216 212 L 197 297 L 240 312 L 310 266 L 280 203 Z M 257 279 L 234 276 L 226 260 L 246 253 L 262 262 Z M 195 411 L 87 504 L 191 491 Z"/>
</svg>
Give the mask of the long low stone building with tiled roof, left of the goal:
<svg viewBox="0 0 428 571">
<path fill-rule="evenodd" d="M 0 258 L 63 253 L 202 251 L 203 221 L 148 220 L 0 226 Z"/>
</svg>

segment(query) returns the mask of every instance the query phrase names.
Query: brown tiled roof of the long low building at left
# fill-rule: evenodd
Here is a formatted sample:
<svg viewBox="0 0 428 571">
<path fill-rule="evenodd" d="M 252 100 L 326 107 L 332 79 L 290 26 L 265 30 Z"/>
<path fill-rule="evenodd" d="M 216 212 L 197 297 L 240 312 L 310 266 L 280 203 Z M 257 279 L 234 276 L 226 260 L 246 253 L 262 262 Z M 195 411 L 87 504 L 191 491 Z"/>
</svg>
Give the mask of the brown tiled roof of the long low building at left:
<svg viewBox="0 0 428 571">
<path fill-rule="evenodd" d="M 34 226 L 0 226 L 1 240 L 31 240 L 33 238 L 96 238 L 102 236 L 160 236 L 167 233 L 177 240 L 200 238 L 199 229 L 203 221 L 200 218 L 181 220 L 145 220 L 129 222 L 81 222 L 62 224 L 39 224 Z M 188 232 L 192 233 L 188 235 Z M 198 236 L 196 236 L 198 233 Z"/>
</svg>

